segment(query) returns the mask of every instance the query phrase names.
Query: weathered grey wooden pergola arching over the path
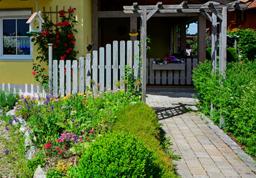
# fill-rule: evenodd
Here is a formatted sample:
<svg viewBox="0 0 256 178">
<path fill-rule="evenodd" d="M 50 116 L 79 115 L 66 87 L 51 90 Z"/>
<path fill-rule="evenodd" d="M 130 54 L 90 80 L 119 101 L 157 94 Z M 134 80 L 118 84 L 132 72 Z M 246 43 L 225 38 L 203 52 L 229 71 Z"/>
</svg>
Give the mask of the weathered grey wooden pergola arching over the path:
<svg viewBox="0 0 256 178">
<path fill-rule="evenodd" d="M 220 70 L 225 75 L 226 67 L 226 34 L 227 34 L 227 11 L 236 9 L 243 10 L 245 4 L 240 1 L 233 1 L 228 4 L 220 4 L 215 1 L 208 1 L 205 4 L 188 4 L 188 1 L 182 1 L 181 4 L 164 5 L 158 2 L 156 5 L 138 5 L 133 3 L 132 6 L 124 6 L 124 13 L 139 13 L 141 16 L 141 60 L 142 60 L 142 101 L 146 102 L 146 62 L 147 62 L 147 20 L 155 13 L 178 13 L 193 14 L 199 13 L 199 62 L 205 60 L 205 30 L 206 20 L 212 23 L 211 29 L 211 60 L 212 72 Z M 220 50 L 217 56 L 217 24 L 220 24 Z M 201 46 L 200 46 L 201 44 Z M 204 46 L 203 46 L 204 45 Z M 217 58 L 220 59 L 217 68 Z"/>
</svg>

